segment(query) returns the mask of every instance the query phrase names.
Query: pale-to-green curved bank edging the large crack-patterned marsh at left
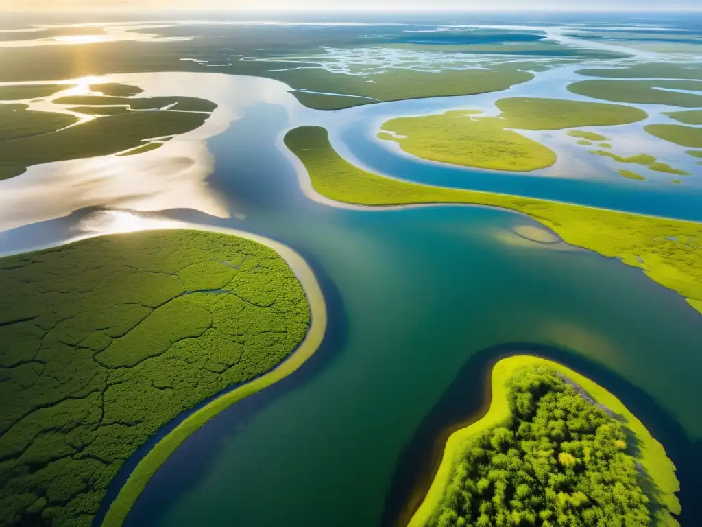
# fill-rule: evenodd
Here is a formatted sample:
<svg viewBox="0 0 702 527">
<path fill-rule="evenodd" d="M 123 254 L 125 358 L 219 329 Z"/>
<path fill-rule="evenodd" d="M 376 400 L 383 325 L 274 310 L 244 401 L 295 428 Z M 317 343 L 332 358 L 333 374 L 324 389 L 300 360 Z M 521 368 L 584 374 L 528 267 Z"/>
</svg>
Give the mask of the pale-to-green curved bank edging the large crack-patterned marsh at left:
<svg viewBox="0 0 702 527">
<path fill-rule="evenodd" d="M 202 408 L 188 415 L 173 430 L 169 431 L 166 436 L 153 445 L 139 460 L 138 464 L 136 464 L 136 467 L 128 476 L 126 483 L 121 486 L 117 497 L 110 503 L 102 521 L 99 524 L 95 523 L 95 525 L 101 525 L 103 527 L 117 527 L 124 523 L 131 507 L 136 502 L 151 477 L 157 472 L 159 467 L 161 467 L 161 464 L 163 464 L 191 434 L 204 426 L 204 424 L 220 412 L 229 408 L 234 403 L 237 403 L 237 401 L 241 401 L 241 399 L 267 388 L 267 386 L 278 382 L 298 370 L 298 368 L 319 349 L 326 332 L 327 313 L 322 288 L 307 261 L 293 249 L 276 240 L 253 233 L 246 233 L 242 230 L 215 228 L 185 222 L 170 223 L 162 227 L 154 226 L 154 228 L 147 228 L 144 230 L 172 229 L 202 230 L 234 235 L 239 238 L 258 242 L 261 245 L 273 249 L 286 261 L 298 280 L 300 280 L 300 285 L 302 285 L 305 296 L 307 297 L 307 302 L 310 305 L 310 327 L 307 330 L 305 339 L 298 345 L 293 353 L 282 361 L 282 363 L 276 365 L 272 370 L 263 373 L 263 375 L 251 379 L 249 382 L 234 386 L 233 389 L 225 390 L 223 393 L 215 396 Z M 100 235 L 103 235 L 103 233 L 91 234 L 81 237 L 81 239 L 95 238 Z M 76 240 L 69 240 L 66 243 L 74 241 Z"/>
</svg>

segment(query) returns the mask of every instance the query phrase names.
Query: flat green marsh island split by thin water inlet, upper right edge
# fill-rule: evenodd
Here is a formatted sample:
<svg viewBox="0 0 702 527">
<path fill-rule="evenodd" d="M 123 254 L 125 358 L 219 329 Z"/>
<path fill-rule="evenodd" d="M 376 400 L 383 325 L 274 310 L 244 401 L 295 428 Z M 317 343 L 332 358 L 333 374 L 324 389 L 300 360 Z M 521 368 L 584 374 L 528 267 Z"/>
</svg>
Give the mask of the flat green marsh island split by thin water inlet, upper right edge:
<svg viewBox="0 0 702 527">
<path fill-rule="evenodd" d="M 578 81 L 568 85 L 568 90 L 578 95 L 595 99 L 612 100 L 617 103 L 665 104 L 682 106 L 683 108 L 698 108 L 702 106 L 702 93 L 684 93 L 667 91 L 665 89 L 680 89 L 702 92 L 700 81 L 615 81 L 592 80 Z"/>
</svg>

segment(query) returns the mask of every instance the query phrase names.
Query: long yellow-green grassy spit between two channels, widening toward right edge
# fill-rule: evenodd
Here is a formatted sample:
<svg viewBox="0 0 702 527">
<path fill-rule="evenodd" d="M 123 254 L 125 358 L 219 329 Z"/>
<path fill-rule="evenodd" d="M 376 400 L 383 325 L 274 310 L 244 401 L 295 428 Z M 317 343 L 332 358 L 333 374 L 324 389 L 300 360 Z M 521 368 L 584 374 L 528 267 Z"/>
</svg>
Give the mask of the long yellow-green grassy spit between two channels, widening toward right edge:
<svg viewBox="0 0 702 527">
<path fill-rule="evenodd" d="M 466 203 L 522 212 L 564 242 L 640 268 L 699 310 L 702 305 L 702 224 L 505 194 L 442 188 L 364 171 L 333 149 L 326 130 L 301 126 L 285 144 L 307 169 L 314 190 L 331 200 L 368 206 Z M 702 311 L 701 311 L 702 312 Z"/>
</svg>

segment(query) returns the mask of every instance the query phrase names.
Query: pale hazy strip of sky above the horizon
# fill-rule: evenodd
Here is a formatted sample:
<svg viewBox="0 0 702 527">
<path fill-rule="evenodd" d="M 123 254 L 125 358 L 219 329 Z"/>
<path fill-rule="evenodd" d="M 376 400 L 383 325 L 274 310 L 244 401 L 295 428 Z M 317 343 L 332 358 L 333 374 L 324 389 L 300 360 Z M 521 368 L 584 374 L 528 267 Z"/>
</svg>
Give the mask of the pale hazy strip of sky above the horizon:
<svg viewBox="0 0 702 527">
<path fill-rule="evenodd" d="M 661 11 L 700 10 L 700 0 L 0 0 L 7 11 L 143 11 L 146 9 L 344 11 Z"/>
</svg>

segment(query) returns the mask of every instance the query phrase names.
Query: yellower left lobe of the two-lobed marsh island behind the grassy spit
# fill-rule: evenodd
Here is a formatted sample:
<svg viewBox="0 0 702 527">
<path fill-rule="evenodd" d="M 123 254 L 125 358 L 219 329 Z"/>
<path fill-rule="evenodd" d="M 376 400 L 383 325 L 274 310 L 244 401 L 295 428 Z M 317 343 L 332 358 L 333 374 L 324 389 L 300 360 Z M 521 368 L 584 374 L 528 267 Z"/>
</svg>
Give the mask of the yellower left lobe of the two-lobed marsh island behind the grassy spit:
<svg viewBox="0 0 702 527">
<path fill-rule="evenodd" d="M 470 117 L 470 112 L 400 117 L 383 124 L 379 134 L 399 143 L 405 152 L 427 160 L 481 169 L 530 171 L 550 167 L 556 155 L 550 148 L 515 131 L 505 130 L 496 117 Z"/>
</svg>

